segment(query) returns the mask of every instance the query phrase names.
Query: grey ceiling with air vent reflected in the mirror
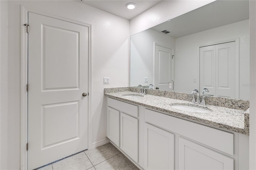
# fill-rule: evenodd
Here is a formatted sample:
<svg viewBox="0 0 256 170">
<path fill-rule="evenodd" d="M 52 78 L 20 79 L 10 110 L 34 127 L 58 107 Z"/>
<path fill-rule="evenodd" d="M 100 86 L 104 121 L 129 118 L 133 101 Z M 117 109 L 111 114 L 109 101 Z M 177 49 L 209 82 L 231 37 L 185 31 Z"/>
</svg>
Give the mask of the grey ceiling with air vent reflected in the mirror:
<svg viewBox="0 0 256 170">
<path fill-rule="evenodd" d="M 170 33 L 166 35 L 179 38 L 248 19 L 248 0 L 217 0 L 152 29 L 167 30 Z"/>
</svg>

